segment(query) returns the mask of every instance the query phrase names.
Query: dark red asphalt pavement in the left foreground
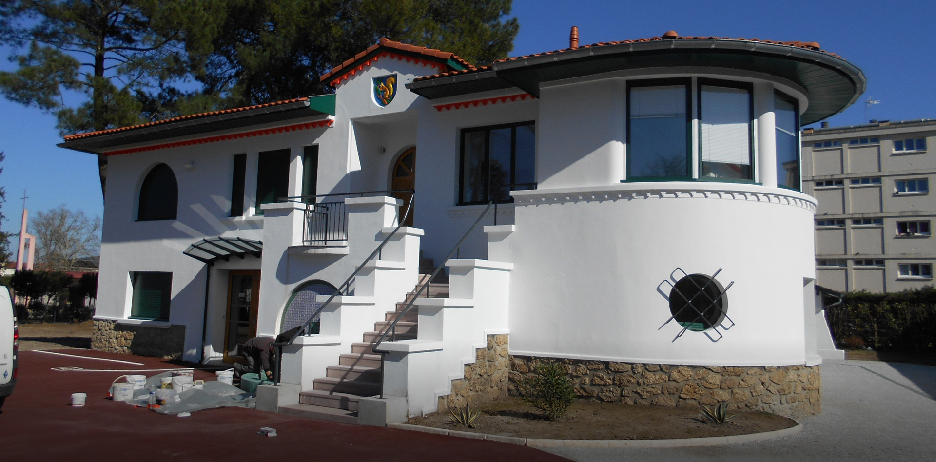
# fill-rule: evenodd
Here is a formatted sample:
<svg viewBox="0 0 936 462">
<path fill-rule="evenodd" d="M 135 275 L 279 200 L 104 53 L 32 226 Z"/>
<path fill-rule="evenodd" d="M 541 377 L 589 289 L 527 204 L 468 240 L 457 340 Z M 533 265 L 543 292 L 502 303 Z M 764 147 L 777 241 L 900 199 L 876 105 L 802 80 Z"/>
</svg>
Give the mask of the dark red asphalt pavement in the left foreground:
<svg viewBox="0 0 936 462">
<path fill-rule="evenodd" d="M 134 366 L 37 352 L 20 354 L 19 382 L 0 413 L 0 460 L 161 461 L 191 460 L 380 460 L 567 461 L 537 449 L 377 426 L 351 426 L 244 408 L 163 415 L 107 397 L 110 383 L 133 372 L 112 369 L 179 368 L 159 359 L 88 350 L 58 353 L 144 363 Z M 78 367 L 103 372 L 56 371 Z M 154 375 L 158 371 L 142 372 Z M 196 370 L 196 379 L 214 379 Z M 73 408 L 72 393 L 87 393 Z M 257 435 L 261 426 L 278 436 Z"/>
</svg>

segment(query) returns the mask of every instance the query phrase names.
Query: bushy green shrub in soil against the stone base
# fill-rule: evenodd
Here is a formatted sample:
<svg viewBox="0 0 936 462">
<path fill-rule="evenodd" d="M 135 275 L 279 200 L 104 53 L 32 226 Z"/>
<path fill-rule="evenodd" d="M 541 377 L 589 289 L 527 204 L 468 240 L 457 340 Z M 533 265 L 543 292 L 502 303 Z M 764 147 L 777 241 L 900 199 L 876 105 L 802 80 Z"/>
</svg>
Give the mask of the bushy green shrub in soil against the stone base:
<svg viewBox="0 0 936 462">
<path fill-rule="evenodd" d="M 523 401 L 542 412 L 548 420 L 565 415 L 576 399 L 572 380 L 565 375 L 563 366 L 557 363 L 536 365 L 534 375 L 519 384 L 519 394 Z"/>
</svg>

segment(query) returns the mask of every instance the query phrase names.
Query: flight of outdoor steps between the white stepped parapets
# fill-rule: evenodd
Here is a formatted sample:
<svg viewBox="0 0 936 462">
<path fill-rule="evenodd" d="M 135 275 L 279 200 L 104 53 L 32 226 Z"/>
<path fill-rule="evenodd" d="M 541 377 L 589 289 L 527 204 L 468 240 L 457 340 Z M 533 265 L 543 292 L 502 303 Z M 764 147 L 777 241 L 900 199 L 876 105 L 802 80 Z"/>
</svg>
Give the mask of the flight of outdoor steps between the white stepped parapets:
<svg viewBox="0 0 936 462">
<path fill-rule="evenodd" d="M 413 300 L 419 287 L 428 281 L 434 269 L 431 259 L 420 258 L 420 277 L 416 288 L 407 294 L 402 302 L 397 303 L 396 310 L 387 311 L 384 321 L 374 323 L 373 331 L 364 332 L 362 341 L 351 345 L 350 354 L 341 354 L 337 365 L 326 368 L 326 377 L 315 379 L 312 390 L 301 392 L 299 404 L 281 406 L 280 413 L 357 424 L 360 397 L 380 395 L 381 356 L 373 353 L 373 345 L 387 331 L 393 320 L 400 316 L 406 305 Z M 420 297 L 432 298 L 447 296 L 448 278 L 446 276 L 436 276 L 428 291 L 420 294 Z M 395 330 L 395 335 L 388 336 L 387 341 L 417 339 L 417 306 L 402 315 Z"/>
</svg>

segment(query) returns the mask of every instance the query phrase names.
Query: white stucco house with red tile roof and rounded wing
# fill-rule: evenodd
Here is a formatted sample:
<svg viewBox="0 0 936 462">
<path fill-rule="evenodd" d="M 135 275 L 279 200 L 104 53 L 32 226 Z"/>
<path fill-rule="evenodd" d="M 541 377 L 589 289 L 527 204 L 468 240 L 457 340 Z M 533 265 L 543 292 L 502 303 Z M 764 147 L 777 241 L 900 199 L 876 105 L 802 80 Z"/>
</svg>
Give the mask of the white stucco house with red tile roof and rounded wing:
<svg viewBox="0 0 936 462">
<path fill-rule="evenodd" d="M 334 94 L 66 137 L 109 155 L 95 348 L 232 361 L 317 313 L 274 410 L 400 420 L 560 361 L 582 397 L 819 412 L 798 127 L 861 71 L 816 43 L 574 37 L 484 67 L 382 39 Z"/>
</svg>

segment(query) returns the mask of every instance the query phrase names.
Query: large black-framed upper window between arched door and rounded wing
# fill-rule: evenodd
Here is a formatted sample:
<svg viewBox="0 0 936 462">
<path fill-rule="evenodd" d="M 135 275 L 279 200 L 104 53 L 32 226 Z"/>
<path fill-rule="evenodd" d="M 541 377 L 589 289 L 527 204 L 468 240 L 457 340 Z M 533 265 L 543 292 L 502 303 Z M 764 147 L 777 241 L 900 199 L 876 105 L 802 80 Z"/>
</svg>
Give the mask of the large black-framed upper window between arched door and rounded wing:
<svg viewBox="0 0 936 462">
<path fill-rule="evenodd" d="M 459 205 L 510 202 L 510 191 L 535 187 L 534 122 L 461 130 Z"/>
</svg>

